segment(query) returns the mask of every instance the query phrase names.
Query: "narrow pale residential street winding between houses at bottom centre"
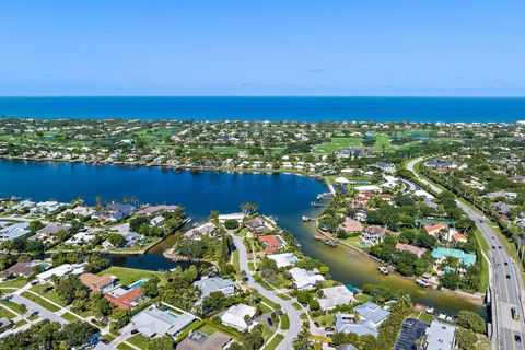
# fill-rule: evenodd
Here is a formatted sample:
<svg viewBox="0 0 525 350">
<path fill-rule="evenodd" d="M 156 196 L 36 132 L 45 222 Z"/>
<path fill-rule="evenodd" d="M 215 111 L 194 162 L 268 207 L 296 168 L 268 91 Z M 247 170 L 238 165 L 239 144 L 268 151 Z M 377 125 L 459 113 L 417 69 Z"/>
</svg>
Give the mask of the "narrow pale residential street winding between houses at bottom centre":
<svg viewBox="0 0 525 350">
<path fill-rule="evenodd" d="M 238 265 L 241 267 L 241 270 L 244 270 L 248 278 L 248 287 L 255 289 L 261 295 L 269 299 L 273 303 L 279 304 L 282 312 L 287 314 L 290 318 L 290 329 L 283 331 L 284 339 L 282 339 L 281 343 L 276 349 L 292 350 L 293 340 L 298 337 L 299 332 L 301 331 L 301 326 L 303 324 L 302 319 L 300 318 L 300 314 L 302 313 L 302 311 L 298 311 L 292 306 L 294 299 L 284 301 L 277 296 L 275 292 L 267 290 L 265 287 L 254 280 L 254 273 L 248 268 L 248 255 L 246 252 L 246 247 L 243 244 L 243 237 L 234 235 L 233 242 L 238 250 Z"/>
</svg>

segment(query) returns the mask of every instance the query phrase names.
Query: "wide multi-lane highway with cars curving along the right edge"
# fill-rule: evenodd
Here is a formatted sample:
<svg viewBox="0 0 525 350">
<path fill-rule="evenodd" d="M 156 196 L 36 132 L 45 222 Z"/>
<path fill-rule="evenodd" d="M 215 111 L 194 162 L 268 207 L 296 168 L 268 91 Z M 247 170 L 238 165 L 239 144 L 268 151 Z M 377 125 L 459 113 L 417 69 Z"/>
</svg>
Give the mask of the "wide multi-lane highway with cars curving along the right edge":
<svg viewBox="0 0 525 350">
<path fill-rule="evenodd" d="M 429 186 L 436 194 L 442 192 L 440 187 L 422 178 L 413 171 L 415 165 L 420 161 L 422 161 L 422 158 L 410 161 L 407 164 L 407 170 L 412 172 L 419 182 Z M 489 283 L 493 315 L 492 346 L 501 350 L 525 349 L 525 307 L 523 303 L 521 267 L 516 265 L 514 259 L 509 255 L 487 217 L 472 210 L 459 200 L 456 200 L 456 205 L 476 222 L 476 226 L 490 247 Z M 512 318 L 511 307 L 513 306 L 516 307 L 521 315 L 521 320 L 514 320 Z M 522 340 L 520 342 L 515 340 L 516 336 L 521 337 Z"/>
</svg>

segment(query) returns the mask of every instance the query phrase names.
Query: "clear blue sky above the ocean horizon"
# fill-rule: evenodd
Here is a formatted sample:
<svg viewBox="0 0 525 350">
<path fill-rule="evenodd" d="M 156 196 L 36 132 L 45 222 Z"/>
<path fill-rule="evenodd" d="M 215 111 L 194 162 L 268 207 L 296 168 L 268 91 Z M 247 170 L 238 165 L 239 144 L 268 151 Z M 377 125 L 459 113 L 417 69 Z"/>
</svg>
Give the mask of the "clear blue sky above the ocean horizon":
<svg viewBox="0 0 525 350">
<path fill-rule="evenodd" d="M 525 96 L 525 1 L 2 1 L 0 95 Z"/>
</svg>

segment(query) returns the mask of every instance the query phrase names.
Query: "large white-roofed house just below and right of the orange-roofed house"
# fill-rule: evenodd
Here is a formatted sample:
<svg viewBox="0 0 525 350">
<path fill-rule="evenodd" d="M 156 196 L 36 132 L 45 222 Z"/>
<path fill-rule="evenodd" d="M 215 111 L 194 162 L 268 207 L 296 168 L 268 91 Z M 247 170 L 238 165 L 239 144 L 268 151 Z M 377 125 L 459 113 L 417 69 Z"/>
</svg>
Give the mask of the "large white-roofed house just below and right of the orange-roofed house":
<svg viewBox="0 0 525 350">
<path fill-rule="evenodd" d="M 195 320 L 189 313 L 175 314 L 170 308 L 159 310 L 154 305 L 141 311 L 131 318 L 137 330 L 148 338 L 170 335 L 175 337 Z"/>
</svg>

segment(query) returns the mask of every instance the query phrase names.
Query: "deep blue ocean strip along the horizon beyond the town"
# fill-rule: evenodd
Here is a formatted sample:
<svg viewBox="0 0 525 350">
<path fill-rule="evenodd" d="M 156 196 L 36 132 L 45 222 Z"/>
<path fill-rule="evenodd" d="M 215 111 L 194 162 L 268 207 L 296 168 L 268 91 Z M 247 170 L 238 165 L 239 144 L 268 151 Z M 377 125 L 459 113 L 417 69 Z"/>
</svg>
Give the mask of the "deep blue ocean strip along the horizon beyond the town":
<svg viewBox="0 0 525 350">
<path fill-rule="evenodd" d="M 516 121 L 523 97 L 0 97 L 0 116 L 301 121 Z"/>
</svg>

